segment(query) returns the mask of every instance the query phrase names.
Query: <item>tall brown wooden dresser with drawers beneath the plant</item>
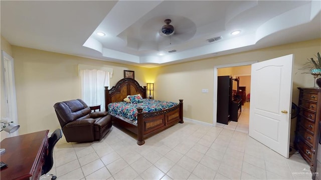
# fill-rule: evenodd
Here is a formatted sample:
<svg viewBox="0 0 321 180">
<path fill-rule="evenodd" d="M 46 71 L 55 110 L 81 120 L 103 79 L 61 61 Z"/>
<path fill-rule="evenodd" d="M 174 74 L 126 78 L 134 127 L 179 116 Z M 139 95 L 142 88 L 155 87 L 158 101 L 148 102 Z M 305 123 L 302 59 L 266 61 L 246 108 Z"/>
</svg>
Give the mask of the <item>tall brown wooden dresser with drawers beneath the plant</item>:
<svg viewBox="0 0 321 180">
<path fill-rule="evenodd" d="M 297 116 L 295 147 L 309 163 L 311 172 L 316 168 L 316 152 L 319 143 L 321 118 L 321 89 L 298 88 L 300 112 Z M 314 179 L 314 177 L 312 177 Z"/>
</svg>

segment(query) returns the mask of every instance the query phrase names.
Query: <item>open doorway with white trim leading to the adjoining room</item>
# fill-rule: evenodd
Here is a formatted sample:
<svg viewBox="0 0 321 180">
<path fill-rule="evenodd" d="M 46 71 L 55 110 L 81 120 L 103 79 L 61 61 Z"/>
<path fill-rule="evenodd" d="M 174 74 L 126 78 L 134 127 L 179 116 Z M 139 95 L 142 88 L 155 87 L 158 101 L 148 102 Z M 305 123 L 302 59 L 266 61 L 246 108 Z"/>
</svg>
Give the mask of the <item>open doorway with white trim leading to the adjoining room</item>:
<svg viewBox="0 0 321 180">
<path fill-rule="evenodd" d="M 214 126 L 224 127 L 241 132 L 249 132 L 249 114 L 250 114 L 250 91 L 251 91 L 251 64 L 256 62 L 245 62 L 231 65 L 223 65 L 214 67 Z M 237 121 L 229 121 L 228 124 L 219 123 L 217 119 L 217 107 L 218 107 L 218 76 L 231 76 L 232 79 L 239 78 L 239 89 L 234 86 L 232 93 L 237 91 L 236 95 L 242 94 L 242 108 L 241 113 L 237 118 Z M 234 81 L 232 83 L 235 83 Z M 238 92 L 239 91 L 239 92 Z M 232 95 L 232 94 L 231 94 Z M 234 96 L 235 94 L 233 94 Z"/>
</svg>

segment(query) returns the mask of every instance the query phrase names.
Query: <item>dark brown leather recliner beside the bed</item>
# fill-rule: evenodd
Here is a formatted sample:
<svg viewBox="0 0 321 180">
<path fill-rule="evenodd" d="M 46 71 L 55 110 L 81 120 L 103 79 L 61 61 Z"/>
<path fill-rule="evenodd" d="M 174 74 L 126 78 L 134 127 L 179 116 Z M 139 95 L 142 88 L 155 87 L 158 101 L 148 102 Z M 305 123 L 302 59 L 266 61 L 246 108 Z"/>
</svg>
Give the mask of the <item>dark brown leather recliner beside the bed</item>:
<svg viewBox="0 0 321 180">
<path fill-rule="evenodd" d="M 106 111 L 91 112 L 81 99 L 58 102 L 54 108 L 67 142 L 100 140 L 111 128 Z"/>
</svg>

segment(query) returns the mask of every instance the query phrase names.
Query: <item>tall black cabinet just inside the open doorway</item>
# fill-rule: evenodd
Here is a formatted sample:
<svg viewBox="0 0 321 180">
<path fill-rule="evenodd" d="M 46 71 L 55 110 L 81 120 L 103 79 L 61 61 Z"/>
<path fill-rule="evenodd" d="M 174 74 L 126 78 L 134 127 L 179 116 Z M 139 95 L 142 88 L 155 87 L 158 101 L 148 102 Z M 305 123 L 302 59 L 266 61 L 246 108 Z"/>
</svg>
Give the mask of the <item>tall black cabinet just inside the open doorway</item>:
<svg viewBox="0 0 321 180">
<path fill-rule="evenodd" d="M 217 122 L 228 124 L 230 121 L 229 105 L 232 95 L 232 78 L 218 76 L 217 81 Z"/>
</svg>

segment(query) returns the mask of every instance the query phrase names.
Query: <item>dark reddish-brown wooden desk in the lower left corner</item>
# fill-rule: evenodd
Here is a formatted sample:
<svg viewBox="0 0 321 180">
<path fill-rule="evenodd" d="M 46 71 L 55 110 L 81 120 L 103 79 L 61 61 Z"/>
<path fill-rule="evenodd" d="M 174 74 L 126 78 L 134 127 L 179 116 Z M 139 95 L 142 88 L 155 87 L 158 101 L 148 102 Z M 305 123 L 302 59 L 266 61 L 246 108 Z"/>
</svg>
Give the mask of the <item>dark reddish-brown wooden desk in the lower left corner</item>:
<svg viewBox="0 0 321 180">
<path fill-rule="evenodd" d="M 1 161 L 8 164 L 1 169 L 0 179 L 39 179 L 48 148 L 48 132 L 43 130 L 8 137 L 1 141 Z"/>
</svg>

